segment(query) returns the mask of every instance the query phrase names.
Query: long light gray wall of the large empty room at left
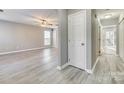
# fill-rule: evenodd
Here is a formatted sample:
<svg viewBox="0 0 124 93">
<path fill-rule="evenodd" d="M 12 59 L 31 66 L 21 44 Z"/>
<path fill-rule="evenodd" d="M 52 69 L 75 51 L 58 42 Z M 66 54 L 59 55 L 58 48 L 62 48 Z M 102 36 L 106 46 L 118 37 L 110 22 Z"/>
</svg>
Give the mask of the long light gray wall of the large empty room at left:
<svg viewBox="0 0 124 93">
<path fill-rule="evenodd" d="M 43 47 L 43 29 L 0 21 L 0 53 Z"/>
</svg>

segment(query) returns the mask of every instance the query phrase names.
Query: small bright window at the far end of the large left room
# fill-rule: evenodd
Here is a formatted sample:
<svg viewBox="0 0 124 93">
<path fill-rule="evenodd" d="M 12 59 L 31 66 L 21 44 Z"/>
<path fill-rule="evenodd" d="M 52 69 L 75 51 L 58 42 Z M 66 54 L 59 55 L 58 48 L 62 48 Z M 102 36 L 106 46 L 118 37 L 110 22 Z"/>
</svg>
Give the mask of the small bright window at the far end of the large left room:
<svg viewBox="0 0 124 93">
<path fill-rule="evenodd" d="M 44 45 L 50 46 L 51 45 L 51 32 L 44 31 Z"/>
</svg>

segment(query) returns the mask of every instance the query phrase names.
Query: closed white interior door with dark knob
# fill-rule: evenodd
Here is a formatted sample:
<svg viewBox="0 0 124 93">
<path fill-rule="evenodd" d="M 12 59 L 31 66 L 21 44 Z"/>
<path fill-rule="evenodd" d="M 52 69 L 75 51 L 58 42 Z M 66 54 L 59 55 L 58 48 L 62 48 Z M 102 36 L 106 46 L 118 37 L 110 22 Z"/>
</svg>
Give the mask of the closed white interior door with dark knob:
<svg viewBox="0 0 124 93">
<path fill-rule="evenodd" d="M 85 69 L 86 62 L 86 12 L 68 16 L 68 58 L 69 64 Z"/>
</svg>

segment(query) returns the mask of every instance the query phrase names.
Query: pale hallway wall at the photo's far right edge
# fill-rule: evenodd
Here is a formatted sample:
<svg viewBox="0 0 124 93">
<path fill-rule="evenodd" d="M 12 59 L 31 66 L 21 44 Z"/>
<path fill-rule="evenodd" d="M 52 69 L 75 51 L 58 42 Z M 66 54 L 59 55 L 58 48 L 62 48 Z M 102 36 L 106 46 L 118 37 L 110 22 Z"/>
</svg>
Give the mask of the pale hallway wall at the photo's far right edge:
<svg viewBox="0 0 124 93">
<path fill-rule="evenodd" d="M 124 14 L 121 14 L 120 19 L 124 17 Z M 124 21 L 119 25 L 119 55 L 124 61 Z"/>
</svg>

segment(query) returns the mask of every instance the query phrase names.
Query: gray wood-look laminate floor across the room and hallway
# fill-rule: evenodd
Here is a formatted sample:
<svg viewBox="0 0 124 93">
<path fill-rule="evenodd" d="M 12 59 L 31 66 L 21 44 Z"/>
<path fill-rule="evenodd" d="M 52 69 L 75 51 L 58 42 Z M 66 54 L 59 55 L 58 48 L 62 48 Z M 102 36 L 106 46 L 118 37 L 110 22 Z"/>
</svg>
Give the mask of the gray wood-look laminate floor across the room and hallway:
<svg viewBox="0 0 124 93">
<path fill-rule="evenodd" d="M 0 56 L 1 84 L 111 84 L 124 83 L 124 63 L 114 55 L 100 56 L 93 74 L 66 67 L 59 71 L 57 49 Z"/>
</svg>

